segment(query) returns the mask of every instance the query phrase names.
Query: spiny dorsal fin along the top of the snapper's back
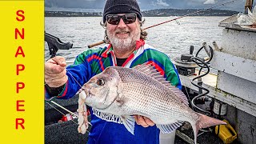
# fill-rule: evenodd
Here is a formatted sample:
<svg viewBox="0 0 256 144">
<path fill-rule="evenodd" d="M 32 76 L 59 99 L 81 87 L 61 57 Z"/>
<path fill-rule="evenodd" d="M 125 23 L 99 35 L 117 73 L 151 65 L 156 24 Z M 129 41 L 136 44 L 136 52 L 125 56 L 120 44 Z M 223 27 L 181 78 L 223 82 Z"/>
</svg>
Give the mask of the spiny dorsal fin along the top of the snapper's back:
<svg viewBox="0 0 256 144">
<path fill-rule="evenodd" d="M 164 86 L 167 86 L 170 90 L 174 92 L 174 94 L 178 96 L 178 98 L 182 100 L 182 102 L 186 104 L 186 106 L 189 106 L 189 102 L 186 98 L 186 95 L 183 94 L 182 90 L 179 90 L 175 86 L 171 86 L 170 81 L 166 81 L 166 78 L 164 78 L 156 69 L 154 69 L 154 66 L 151 66 L 150 64 L 147 65 L 146 63 L 144 63 L 142 65 L 134 66 L 133 68 L 158 80 L 158 82 L 161 82 Z"/>
</svg>

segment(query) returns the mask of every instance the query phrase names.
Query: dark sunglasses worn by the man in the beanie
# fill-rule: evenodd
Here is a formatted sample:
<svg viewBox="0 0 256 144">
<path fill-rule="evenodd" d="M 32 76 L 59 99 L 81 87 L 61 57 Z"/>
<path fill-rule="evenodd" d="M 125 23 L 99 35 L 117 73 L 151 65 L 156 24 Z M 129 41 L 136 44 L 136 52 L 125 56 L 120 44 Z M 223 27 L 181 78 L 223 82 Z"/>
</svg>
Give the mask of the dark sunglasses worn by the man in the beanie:
<svg viewBox="0 0 256 144">
<path fill-rule="evenodd" d="M 106 15 L 106 21 L 111 25 L 118 25 L 120 22 L 120 19 L 122 18 L 122 21 L 125 22 L 125 24 L 131 24 L 136 21 L 137 14 L 124 14 L 124 15 L 118 15 L 118 14 L 108 14 Z"/>
</svg>

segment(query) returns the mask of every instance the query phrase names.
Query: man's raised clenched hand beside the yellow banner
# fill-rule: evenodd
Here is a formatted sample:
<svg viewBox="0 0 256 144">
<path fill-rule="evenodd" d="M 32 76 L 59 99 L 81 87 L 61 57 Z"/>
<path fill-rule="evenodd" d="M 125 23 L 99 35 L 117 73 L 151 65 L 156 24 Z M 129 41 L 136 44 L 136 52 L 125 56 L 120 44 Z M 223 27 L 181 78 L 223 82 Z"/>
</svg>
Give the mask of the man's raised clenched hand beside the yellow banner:
<svg viewBox="0 0 256 144">
<path fill-rule="evenodd" d="M 45 63 L 45 82 L 50 87 L 63 86 L 67 81 L 66 60 L 56 56 Z"/>
</svg>

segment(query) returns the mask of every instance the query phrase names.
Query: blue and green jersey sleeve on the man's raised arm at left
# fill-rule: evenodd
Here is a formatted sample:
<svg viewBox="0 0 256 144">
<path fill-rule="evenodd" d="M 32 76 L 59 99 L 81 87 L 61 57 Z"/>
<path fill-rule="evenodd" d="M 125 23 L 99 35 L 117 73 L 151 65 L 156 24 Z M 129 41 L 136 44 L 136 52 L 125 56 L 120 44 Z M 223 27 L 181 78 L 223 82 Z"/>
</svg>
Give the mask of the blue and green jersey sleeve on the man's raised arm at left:
<svg viewBox="0 0 256 144">
<path fill-rule="evenodd" d="M 74 64 L 66 67 L 66 75 L 68 76 L 68 81 L 66 82 L 64 89 L 55 98 L 72 98 L 78 90 L 83 86 L 84 83 L 89 81 L 92 77 L 90 63 L 85 60 L 85 54 L 80 54 L 75 59 Z M 45 90 L 46 99 L 50 98 Z"/>
</svg>

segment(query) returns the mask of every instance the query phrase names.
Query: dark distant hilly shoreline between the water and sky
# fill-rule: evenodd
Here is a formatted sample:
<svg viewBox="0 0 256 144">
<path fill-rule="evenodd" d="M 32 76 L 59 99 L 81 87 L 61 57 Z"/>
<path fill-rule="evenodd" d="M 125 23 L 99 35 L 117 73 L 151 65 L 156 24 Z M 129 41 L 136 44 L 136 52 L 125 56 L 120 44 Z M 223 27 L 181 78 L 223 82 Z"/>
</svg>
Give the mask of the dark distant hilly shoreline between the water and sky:
<svg viewBox="0 0 256 144">
<path fill-rule="evenodd" d="M 157 10 L 143 10 L 142 16 L 144 17 L 169 17 L 169 16 L 182 16 L 194 13 L 198 10 L 195 9 L 157 9 Z M 191 16 L 230 16 L 238 14 L 238 11 L 232 10 L 206 10 Z M 102 17 L 102 12 L 71 12 L 71 11 L 45 11 L 46 17 Z"/>
</svg>

